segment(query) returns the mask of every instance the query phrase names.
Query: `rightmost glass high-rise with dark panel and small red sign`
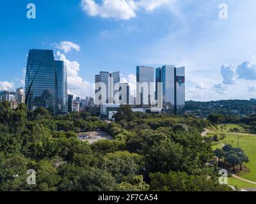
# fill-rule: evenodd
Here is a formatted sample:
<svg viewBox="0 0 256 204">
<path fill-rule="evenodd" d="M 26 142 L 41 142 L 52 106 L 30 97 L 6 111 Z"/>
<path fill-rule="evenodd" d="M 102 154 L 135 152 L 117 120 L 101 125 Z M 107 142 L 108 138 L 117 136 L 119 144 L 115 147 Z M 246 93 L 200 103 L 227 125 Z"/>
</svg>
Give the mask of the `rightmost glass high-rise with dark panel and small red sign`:
<svg viewBox="0 0 256 204">
<path fill-rule="evenodd" d="M 185 68 L 164 65 L 156 69 L 156 99 L 160 93 L 157 83 L 163 83 L 163 107 L 166 112 L 180 113 L 185 105 Z"/>
</svg>

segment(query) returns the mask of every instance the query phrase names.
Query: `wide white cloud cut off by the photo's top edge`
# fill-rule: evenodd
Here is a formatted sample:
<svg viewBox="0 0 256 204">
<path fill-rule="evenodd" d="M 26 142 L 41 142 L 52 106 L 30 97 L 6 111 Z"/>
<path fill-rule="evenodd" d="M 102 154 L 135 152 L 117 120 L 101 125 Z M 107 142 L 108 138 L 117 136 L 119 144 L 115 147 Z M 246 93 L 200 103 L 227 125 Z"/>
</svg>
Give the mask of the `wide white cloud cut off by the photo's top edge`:
<svg viewBox="0 0 256 204">
<path fill-rule="evenodd" d="M 90 16 L 102 18 L 116 18 L 129 20 L 136 17 L 137 10 L 153 11 L 173 0 L 102 0 L 101 4 L 94 0 L 82 0 L 81 5 L 84 11 Z"/>
</svg>

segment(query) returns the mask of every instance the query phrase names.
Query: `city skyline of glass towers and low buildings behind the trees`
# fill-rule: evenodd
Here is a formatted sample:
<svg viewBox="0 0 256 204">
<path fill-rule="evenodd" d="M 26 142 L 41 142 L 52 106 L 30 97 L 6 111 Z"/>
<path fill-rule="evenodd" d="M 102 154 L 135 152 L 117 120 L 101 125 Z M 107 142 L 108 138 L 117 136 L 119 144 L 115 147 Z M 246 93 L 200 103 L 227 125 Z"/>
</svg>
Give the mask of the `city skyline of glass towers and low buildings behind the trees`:
<svg viewBox="0 0 256 204">
<path fill-rule="evenodd" d="M 66 62 L 56 61 L 53 50 L 31 49 L 26 68 L 25 92 L 23 88 L 16 92 L 2 91 L 0 101 L 10 101 L 13 109 L 20 103 L 25 103 L 28 110 L 44 107 L 54 115 L 84 112 L 84 108 L 94 106 L 100 107 L 100 114 L 113 115 L 113 111 L 121 104 L 132 105 L 135 112 L 155 109 L 154 112 L 161 113 L 163 109 L 164 112 L 176 115 L 177 110 L 180 110 L 180 114 L 184 112 L 184 84 L 184 67 L 164 65 L 155 70 L 152 67 L 137 66 L 136 93 L 131 92 L 129 83 L 120 82 L 120 71 L 100 71 L 99 75 L 95 75 L 93 98 L 76 96 L 74 100 L 74 96 L 67 91 Z M 102 109 L 102 105 L 106 107 Z M 109 113 L 109 108 L 112 108 L 112 113 Z"/>
</svg>

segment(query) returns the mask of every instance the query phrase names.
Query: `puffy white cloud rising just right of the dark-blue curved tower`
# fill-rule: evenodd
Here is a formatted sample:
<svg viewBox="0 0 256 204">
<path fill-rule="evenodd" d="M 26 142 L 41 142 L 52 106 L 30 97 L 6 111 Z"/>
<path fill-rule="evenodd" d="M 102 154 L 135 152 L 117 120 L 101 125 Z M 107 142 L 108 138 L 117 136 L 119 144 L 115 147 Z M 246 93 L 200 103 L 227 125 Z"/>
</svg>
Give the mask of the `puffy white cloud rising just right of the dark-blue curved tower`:
<svg viewBox="0 0 256 204">
<path fill-rule="evenodd" d="M 65 54 L 60 51 L 57 52 L 61 61 L 66 62 L 67 66 L 67 80 L 68 80 L 68 94 L 74 96 L 93 96 L 93 85 L 79 77 L 80 64 L 77 61 L 70 61 Z"/>
</svg>

